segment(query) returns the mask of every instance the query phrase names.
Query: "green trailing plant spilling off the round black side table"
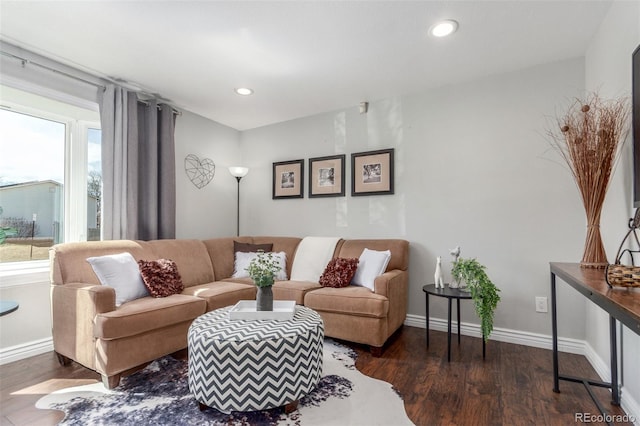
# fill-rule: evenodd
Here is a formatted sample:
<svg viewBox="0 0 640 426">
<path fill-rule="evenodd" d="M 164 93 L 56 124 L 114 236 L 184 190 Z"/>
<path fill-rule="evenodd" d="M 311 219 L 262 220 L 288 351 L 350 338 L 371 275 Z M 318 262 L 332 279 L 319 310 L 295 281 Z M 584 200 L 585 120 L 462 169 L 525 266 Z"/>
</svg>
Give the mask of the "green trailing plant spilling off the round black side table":
<svg viewBox="0 0 640 426">
<path fill-rule="evenodd" d="M 500 301 L 500 289 L 489 279 L 485 269 L 476 259 L 458 258 L 453 263 L 451 275 L 455 280 L 466 283 L 486 341 L 493 331 L 493 314 Z"/>
</svg>

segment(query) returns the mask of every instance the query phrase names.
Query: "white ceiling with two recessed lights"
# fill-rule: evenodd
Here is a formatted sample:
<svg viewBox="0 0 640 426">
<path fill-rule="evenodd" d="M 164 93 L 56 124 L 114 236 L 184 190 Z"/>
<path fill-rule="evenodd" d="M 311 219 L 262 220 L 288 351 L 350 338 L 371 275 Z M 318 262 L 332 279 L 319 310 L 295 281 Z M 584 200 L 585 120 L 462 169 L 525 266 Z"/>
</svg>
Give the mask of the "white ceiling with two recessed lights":
<svg viewBox="0 0 640 426">
<path fill-rule="evenodd" d="M 0 0 L 0 40 L 246 130 L 583 56 L 610 5 Z"/>
</svg>

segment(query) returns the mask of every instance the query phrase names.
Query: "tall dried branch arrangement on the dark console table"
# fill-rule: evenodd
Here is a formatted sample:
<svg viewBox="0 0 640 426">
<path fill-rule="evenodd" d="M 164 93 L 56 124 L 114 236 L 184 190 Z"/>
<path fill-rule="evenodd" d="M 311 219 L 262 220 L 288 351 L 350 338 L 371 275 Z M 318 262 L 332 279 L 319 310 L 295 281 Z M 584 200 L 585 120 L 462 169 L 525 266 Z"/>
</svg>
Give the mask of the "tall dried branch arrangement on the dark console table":
<svg viewBox="0 0 640 426">
<path fill-rule="evenodd" d="M 626 98 L 603 100 L 597 93 L 576 99 L 548 131 L 580 190 L 587 215 L 587 239 L 581 265 L 604 268 L 607 255 L 600 235 L 600 213 L 622 145 L 629 131 Z"/>
</svg>

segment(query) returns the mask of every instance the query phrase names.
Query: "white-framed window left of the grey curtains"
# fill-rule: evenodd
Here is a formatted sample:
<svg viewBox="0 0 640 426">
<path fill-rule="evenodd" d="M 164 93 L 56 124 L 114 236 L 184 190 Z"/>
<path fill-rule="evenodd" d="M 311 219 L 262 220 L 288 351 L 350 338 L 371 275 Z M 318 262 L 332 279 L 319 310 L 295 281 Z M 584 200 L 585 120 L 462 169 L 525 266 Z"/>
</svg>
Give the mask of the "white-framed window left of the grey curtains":
<svg viewBox="0 0 640 426">
<path fill-rule="evenodd" d="M 0 262 L 100 239 L 97 111 L 0 87 Z"/>
</svg>

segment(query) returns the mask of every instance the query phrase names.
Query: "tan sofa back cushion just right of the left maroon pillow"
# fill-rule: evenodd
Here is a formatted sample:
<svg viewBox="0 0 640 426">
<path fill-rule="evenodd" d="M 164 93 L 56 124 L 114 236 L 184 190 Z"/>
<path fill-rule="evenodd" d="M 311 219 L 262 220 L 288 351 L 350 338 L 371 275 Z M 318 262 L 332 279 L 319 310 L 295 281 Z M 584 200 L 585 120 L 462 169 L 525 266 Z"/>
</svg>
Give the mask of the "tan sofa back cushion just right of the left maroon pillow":
<svg viewBox="0 0 640 426">
<path fill-rule="evenodd" d="M 154 240 L 147 242 L 155 259 L 171 259 L 185 287 L 215 281 L 207 247 L 200 240 Z"/>
</svg>

